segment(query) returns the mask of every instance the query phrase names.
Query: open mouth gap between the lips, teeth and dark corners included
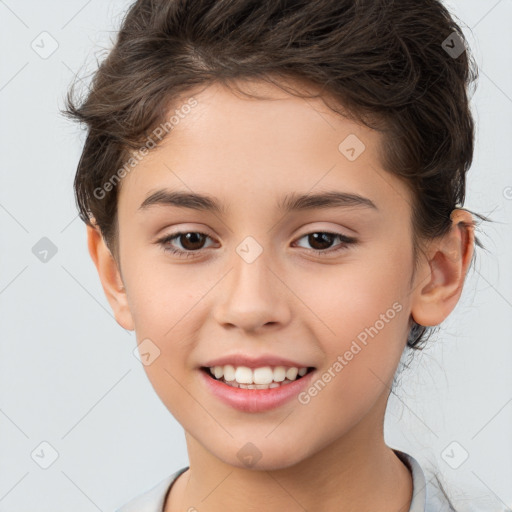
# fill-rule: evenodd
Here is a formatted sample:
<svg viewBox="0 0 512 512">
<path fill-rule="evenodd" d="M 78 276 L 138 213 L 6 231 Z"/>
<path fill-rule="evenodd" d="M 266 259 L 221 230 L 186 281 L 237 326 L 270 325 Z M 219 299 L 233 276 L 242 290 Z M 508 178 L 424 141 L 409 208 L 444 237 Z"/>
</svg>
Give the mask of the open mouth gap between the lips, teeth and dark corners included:
<svg viewBox="0 0 512 512">
<path fill-rule="evenodd" d="M 240 369 L 239 369 L 240 368 Z M 252 371 L 251 368 L 233 366 L 199 368 L 210 379 L 232 388 L 264 390 L 287 386 L 303 379 L 315 370 L 314 366 L 302 368 L 264 367 Z"/>
</svg>

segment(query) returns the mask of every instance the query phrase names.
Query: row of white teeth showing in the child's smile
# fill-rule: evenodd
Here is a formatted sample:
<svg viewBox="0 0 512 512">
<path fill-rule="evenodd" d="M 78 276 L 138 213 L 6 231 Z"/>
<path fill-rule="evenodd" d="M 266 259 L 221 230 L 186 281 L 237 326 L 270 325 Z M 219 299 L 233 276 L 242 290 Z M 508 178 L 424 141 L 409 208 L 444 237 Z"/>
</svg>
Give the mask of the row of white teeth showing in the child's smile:
<svg viewBox="0 0 512 512">
<path fill-rule="evenodd" d="M 210 373 L 218 380 L 228 383 L 240 384 L 240 387 L 251 386 L 247 389 L 265 389 L 267 387 L 279 387 L 279 383 L 294 381 L 297 375 L 303 377 L 306 375 L 307 367 L 297 368 L 284 366 L 262 366 L 260 368 L 248 368 L 247 366 L 233 366 L 230 364 L 224 366 L 214 366 L 210 368 Z M 273 386 L 272 384 L 275 384 Z M 263 386 L 263 387 L 258 387 Z M 238 387 L 238 386 L 237 386 Z"/>
</svg>

